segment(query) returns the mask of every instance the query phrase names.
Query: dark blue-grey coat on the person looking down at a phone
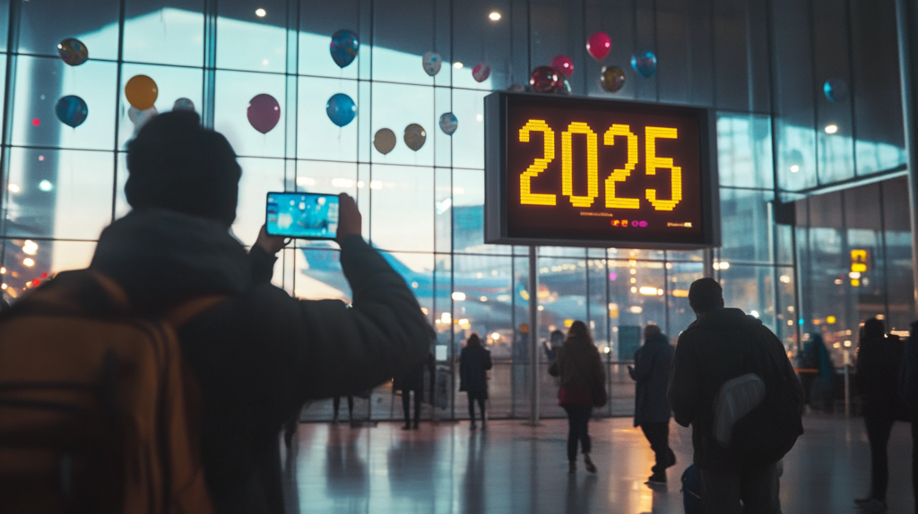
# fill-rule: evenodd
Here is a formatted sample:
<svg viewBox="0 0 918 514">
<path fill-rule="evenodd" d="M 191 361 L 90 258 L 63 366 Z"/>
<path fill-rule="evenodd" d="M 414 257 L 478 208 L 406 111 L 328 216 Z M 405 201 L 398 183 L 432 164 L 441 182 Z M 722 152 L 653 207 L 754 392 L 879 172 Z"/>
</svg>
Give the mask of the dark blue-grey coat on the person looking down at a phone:
<svg viewBox="0 0 918 514">
<path fill-rule="evenodd" d="M 637 382 L 634 391 L 634 426 L 644 423 L 668 423 L 670 417 L 666 387 L 669 366 L 676 351 L 664 334 L 651 335 L 644 346 L 634 352 L 631 377 Z"/>
</svg>

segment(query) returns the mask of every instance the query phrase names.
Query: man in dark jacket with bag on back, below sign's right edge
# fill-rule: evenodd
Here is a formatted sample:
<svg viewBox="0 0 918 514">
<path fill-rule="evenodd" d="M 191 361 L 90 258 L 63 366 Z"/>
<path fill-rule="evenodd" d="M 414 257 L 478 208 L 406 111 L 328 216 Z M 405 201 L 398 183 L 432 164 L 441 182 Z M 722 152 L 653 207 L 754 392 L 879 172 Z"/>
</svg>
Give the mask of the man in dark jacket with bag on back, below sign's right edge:
<svg viewBox="0 0 918 514">
<path fill-rule="evenodd" d="M 750 466 L 717 443 L 713 433 L 714 397 L 724 382 L 746 372 L 747 345 L 758 342 L 759 355 L 778 363 L 796 408 L 802 412 L 800 381 L 778 337 L 739 309 L 723 308 L 723 290 L 714 279 L 689 288 L 689 305 L 698 319 L 676 345 L 667 396 L 676 422 L 692 427 L 695 465 L 701 471 L 701 498 L 707 512 L 779 514 L 780 463 Z M 763 370 L 756 369 L 760 376 Z M 778 377 L 779 378 L 779 377 Z"/>
</svg>

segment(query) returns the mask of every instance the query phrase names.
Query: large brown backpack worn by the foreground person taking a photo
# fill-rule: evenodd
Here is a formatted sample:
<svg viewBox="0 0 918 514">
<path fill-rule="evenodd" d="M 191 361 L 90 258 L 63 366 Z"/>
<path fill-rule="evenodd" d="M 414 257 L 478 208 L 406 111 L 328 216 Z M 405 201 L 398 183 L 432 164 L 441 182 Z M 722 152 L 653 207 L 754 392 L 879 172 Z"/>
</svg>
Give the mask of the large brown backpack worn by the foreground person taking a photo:
<svg viewBox="0 0 918 514">
<path fill-rule="evenodd" d="M 0 512 L 212 512 L 175 327 L 219 300 L 142 317 L 80 270 L 0 316 Z"/>
</svg>

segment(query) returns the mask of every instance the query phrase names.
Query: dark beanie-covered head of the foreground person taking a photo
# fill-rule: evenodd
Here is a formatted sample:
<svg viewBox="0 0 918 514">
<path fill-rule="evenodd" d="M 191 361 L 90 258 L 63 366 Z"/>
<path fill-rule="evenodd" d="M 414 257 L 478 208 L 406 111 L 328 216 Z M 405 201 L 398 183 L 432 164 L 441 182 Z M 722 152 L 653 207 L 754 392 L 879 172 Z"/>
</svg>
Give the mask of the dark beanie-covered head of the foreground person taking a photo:
<svg viewBox="0 0 918 514">
<path fill-rule="evenodd" d="M 236 219 L 242 170 L 222 134 L 193 112 L 151 119 L 128 143 L 128 203 L 136 211 L 166 209 L 217 220 Z"/>
</svg>

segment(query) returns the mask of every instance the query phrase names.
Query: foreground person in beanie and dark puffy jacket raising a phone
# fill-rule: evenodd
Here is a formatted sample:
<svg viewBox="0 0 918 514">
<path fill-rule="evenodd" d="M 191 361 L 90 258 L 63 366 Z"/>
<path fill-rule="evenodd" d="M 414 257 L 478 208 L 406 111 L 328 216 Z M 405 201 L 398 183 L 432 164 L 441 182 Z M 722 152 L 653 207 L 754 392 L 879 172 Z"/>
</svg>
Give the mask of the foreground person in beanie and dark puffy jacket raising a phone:
<svg viewBox="0 0 918 514">
<path fill-rule="evenodd" d="M 361 236 L 341 195 L 338 243 L 353 304 L 297 301 L 271 285 L 283 238 L 249 253 L 232 235 L 241 169 L 194 113 L 159 115 L 128 145 L 133 212 L 102 233 L 91 268 L 141 312 L 226 297 L 180 332 L 201 391 L 201 454 L 218 513 L 284 512 L 278 435 L 308 399 L 353 394 L 418 366 L 426 323 L 405 281 Z"/>
</svg>

